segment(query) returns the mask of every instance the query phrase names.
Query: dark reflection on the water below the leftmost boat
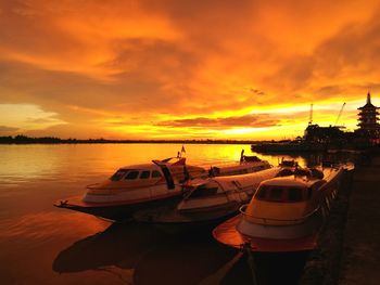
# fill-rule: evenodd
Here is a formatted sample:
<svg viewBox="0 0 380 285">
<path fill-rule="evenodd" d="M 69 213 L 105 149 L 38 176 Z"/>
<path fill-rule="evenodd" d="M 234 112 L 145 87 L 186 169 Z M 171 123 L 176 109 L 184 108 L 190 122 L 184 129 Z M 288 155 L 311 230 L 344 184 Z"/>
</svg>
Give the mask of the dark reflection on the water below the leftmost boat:
<svg viewBox="0 0 380 285">
<path fill-rule="evenodd" d="M 62 250 L 53 261 L 59 273 L 97 270 L 110 265 L 132 269 L 161 234 L 154 228 L 136 223 L 114 223 L 105 231 L 80 239 Z"/>
</svg>

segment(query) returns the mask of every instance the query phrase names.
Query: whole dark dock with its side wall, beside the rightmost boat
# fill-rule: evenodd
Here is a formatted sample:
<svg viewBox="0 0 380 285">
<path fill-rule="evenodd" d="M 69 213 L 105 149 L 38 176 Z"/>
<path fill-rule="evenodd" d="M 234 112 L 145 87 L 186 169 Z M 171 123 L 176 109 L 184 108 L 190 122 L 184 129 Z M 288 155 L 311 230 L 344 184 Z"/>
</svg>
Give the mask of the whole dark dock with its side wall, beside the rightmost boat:
<svg viewBox="0 0 380 285">
<path fill-rule="evenodd" d="M 380 156 L 343 179 L 301 285 L 379 284 Z"/>
</svg>

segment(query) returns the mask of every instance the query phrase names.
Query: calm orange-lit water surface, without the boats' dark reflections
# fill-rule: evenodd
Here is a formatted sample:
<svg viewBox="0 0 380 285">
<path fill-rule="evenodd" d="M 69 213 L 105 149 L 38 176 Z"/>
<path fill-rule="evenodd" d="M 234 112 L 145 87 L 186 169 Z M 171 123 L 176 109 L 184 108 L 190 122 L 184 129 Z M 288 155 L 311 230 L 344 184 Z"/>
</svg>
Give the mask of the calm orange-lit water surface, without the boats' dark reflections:
<svg viewBox="0 0 380 285">
<path fill-rule="evenodd" d="M 0 145 L 1 284 L 193 284 L 236 252 L 205 239 L 111 224 L 53 207 L 118 167 L 175 156 L 178 144 Z M 185 145 L 188 164 L 238 161 L 250 145 Z M 277 165 L 279 157 L 263 156 Z M 296 157 L 302 164 L 306 160 Z M 220 273 L 221 274 L 221 273 Z M 223 274 L 221 274 L 223 275 Z"/>
</svg>

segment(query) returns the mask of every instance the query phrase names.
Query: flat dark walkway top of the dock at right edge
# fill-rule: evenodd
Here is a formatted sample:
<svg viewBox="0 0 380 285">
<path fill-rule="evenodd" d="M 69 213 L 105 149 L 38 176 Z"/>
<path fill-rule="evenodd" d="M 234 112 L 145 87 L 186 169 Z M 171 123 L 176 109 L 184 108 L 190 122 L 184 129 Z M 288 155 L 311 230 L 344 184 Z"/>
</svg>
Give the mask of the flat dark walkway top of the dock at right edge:
<svg viewBox="0 0 380 285">
<path fill-rule="evenodd" d="M 379 284 L 380 157 L 355 170 L 343 241 L 340 285 Z"/>
</svg>

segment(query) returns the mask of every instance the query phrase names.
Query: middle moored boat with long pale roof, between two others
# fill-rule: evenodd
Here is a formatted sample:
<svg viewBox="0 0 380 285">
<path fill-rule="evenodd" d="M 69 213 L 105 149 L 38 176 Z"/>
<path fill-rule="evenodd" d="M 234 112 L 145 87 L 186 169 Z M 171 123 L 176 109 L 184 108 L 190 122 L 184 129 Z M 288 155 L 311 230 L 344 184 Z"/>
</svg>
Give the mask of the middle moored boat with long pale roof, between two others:
<svg viewBox="0 0 380 285">
<path fill-rule="evenodd" d="M 134 218 L 166 224 L 226 220 L 252 198 L 262 181 L 282 176 L 283 170 L 282 167 L 274 167 L 246 174 L 188 180 L 183 184 L 187 194 L 178 204 L 139 210 Z"/>
</svg>

